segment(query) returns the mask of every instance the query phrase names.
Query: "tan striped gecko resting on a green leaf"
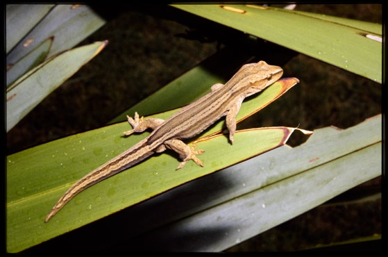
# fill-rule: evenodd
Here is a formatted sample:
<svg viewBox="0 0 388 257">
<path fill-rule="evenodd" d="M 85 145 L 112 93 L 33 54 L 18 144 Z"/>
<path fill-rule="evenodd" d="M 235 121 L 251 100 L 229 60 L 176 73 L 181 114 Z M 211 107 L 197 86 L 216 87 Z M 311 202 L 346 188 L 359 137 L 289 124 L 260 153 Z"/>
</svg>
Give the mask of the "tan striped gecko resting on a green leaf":
<svg viewBox="0 0 388 257">
<path fill-rule="evenodd" d="M 184 167 L 188 160 L 203 166 L 196 156 L 203 154 L 204 151 L 196 150 L 195 145 L 189 147 L 182 140 L 198 135 L 221 117 L 226 116 L 229 141 L 233 144 L 236 116 L 242 101 L 278 81 L 282 74 L 281 67 L 268 65 L 263 60 L 258 63 L 248 63 L 243 65 L 225 85 L 221 83 L 212 85 L 210 93 L 184 106 L 166 120 L 157 118 L 144 120 L 137 113 L 134 118 L 127 115 L 133 129 L 124 132 L 124 135 L 141 133 L 151 128 L 152 132 L 149 136 L 78 180 L 60 197 L 44 221 L 48 222 L 65 204 L 86 188 L 166 149 L 176 151 L 182 160 L 176 169 Z"/>
</svg>

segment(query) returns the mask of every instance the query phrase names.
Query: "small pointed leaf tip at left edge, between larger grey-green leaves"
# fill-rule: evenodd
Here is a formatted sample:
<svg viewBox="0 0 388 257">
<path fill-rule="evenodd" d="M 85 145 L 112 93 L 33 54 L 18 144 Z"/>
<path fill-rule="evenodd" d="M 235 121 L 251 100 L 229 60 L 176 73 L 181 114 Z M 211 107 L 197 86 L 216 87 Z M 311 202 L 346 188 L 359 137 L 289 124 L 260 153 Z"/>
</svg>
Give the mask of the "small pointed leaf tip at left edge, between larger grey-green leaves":
<svg viewBox="0 0 388 257">
<path fill-rule="evenodd" d="M 16 81 L 17 78 L 28 72 L 33 67 L 42 63 L 43 60 L 49 54 L 51 45 L 53 44 L 53 38 L 45 40 L 36 49 L 33 49 L 30 53 L 20 59 L 15 65 L 12 65 L 7 70 L 7 87 Z"/>
</svg>

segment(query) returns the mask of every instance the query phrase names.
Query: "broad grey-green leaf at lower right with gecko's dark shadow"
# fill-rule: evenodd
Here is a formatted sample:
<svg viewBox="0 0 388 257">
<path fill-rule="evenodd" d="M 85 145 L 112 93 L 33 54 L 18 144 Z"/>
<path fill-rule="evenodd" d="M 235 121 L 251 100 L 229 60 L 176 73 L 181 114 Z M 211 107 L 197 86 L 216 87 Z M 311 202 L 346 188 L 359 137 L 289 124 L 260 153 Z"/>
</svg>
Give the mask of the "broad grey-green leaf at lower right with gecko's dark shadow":
<svg viewBox="0 0 388 257">
<path fill-rule="evenodd" d="M 378 115 L 344 130 L 319 128 L 298 147 L 273 149 L 131 208 L 124 217 L 131 231 L 117 233 L 133 251 L 228 249 L 380 176 L 381 126 Z"/>
</svg>

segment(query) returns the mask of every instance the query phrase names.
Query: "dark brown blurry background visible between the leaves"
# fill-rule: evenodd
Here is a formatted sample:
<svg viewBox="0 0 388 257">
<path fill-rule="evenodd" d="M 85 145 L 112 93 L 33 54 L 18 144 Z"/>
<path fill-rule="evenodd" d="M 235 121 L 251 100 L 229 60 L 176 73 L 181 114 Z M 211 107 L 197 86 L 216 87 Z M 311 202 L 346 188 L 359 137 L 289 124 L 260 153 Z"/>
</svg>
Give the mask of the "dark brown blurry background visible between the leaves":
<svg viewBox="0 0 388 257">
<path fill-rule="evenodd" d="M 214 41 L 212 35 L 201 40 L 178 36 L 189 28 L 155 15 L 158 10 L 155 6 L 106 10 L 97 6 L 108 22 L 79 45 L 109 40 L 108 46 L 12 128 L 7 135 L 8 154 L 104 126 L 227 44 Z M 298 5 L 296 10 L 382 23 L 378 4 Z M 282 68 L 285 77 L 295 76 L 301 83 L 237 129 L 298 124 L 308 130 L 347 128 L 382 113 L 378 83 L 301 54 Z M 289 144 L 303 140 L 296 135 Z M 357 192 L 380 192 L 380 186 L 381 179 L 373 179 L 228 251 L 308 249 L 380 234 L 381 198 L 348 201 Z M 376 244 L 366 249 L 376 249 Z"/>
</svg>

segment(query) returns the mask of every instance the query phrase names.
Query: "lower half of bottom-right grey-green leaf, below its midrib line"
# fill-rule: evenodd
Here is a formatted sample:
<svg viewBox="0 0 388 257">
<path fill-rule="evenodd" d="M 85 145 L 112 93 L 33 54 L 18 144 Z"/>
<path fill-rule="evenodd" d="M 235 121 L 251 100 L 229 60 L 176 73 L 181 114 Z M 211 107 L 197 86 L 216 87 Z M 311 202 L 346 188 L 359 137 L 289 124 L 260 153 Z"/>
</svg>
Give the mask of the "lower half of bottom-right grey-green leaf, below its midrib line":
<svg viewBox="0 0 388 257">
<path fill-rule="evenodd" d="M 128 247 L 150 249 L 146 242 L 153 251 L 223 251 L 380 176 L 380 153 L 381 142 L 170 223 Z"/>
</svg>

